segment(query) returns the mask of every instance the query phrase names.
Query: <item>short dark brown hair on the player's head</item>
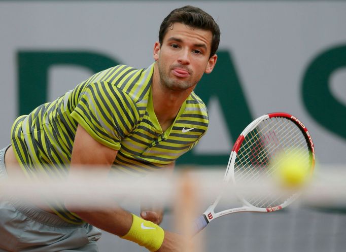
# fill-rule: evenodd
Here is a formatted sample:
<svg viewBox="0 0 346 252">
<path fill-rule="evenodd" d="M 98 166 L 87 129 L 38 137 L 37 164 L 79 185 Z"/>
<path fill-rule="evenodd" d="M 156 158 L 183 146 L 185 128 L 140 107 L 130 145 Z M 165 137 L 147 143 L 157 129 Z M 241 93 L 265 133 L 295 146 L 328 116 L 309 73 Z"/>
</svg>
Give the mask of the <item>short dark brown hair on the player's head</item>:
<svg viewBox="0 0 346 252">
<path fill-rule="evenodd" d="M 214 18 L 203 10 L 190 5 L 171 11 L 168 16 L 163 19 L 160 25 L 159 42 L 162 45 L 163 37 L 167 33 L 167 28 L 174 23 L 183 23 L 193 28 L 210 30 L 213 34 L 212 50 L 210 57 L 216 53 L 220 43 L 220 28 Z"/>
</svg>

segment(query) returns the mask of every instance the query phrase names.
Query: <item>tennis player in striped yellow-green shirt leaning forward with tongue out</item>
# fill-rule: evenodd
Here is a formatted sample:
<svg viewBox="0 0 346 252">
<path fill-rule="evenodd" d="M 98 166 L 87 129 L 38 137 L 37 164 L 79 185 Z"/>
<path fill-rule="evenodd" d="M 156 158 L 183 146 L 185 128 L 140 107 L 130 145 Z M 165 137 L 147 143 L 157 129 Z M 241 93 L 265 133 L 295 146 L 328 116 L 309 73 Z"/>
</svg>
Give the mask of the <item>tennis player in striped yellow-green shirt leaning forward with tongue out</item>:
<svg viewBox="0 0 346 252">
<path fill-rule="evenodd" d="M 175 9 L 161 23 L 149 67 L 103 70 L 18 117 L 11 145 L 0 152 L 0 176 L 34 179 L 38 170 L 71 175 L 93 166 L 136 175 L 174 167 L 207 130 L 206 106 L 193 89 L 212 72 L 219 41 L 209 14 Z M 141 218 L 116 202 L 102 210 L 73 203 L 37 207 L 1 200 L 0 250 L 97 251 L 99 229 L 150 251 L 182 250 L 182 237 L 158 226 L 162 210 L 142 211 Z"/>
</svg>

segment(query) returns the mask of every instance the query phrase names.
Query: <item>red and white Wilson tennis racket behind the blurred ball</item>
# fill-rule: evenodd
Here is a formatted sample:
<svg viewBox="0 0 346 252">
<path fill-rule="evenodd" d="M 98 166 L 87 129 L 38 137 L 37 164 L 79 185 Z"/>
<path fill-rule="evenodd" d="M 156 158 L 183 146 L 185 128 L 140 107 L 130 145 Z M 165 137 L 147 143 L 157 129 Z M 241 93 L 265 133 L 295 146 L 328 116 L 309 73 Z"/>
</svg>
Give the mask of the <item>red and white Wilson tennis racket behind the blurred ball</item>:
<svg viewBox="0 0 346 252">
<path fill-rule="evenodd" d="M 290 155 L 291 152 L 298 152 L 295 157 L 299 158 L 302 167 L 311 174 L 315 166 L 315 148 L 304 124 L 286 113 L 261 116 L 250 123 L 235 141 L 224 181 L 234 185 L 252 185 L 261 182 L 263 177 L 270 179 L 274 176 L 275 169 L 280 166 L 280 163 L 273 166 L 273 160 L 277 159 L 278 155 Z M 287 195 L 274 190 L 261 196 L 257 192 L 236 192 L 236 195 L 243 206 L 215 212 L 215 207 L 222 197 L 218 196 L 196 220 L 194 232 L 198 233 L 211 221 L 226 214 L 280 210 L 292 203 L 299 196 L 299 192 Z"/>
</svg>

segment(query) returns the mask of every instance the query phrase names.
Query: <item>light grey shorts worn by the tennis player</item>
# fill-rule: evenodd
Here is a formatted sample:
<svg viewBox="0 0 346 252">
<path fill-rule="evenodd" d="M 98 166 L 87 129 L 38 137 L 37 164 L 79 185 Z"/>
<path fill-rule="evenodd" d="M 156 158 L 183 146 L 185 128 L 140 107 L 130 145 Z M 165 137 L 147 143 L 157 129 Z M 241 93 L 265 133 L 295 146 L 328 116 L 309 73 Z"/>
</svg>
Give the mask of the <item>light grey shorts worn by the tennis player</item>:
<svg viewBox="0 0 346 252">
<path fill-rule="evenodd" d="M 7 148 L 0 150 L 0 183 L 7 176 Z M 66 223 L 55 214 L 0 195 L 0 252 L 96 252 L 100 236 L 101 232 L 89 224 Z"/>
</svg>

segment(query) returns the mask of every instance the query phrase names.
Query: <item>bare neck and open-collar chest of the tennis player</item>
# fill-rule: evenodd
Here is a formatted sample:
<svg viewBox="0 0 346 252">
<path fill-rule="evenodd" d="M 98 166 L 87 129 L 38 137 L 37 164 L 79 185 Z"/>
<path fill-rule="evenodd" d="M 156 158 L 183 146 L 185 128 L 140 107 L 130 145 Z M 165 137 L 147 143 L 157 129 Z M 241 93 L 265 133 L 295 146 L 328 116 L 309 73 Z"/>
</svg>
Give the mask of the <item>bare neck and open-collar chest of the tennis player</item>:
<svg viewBox="0 0 346 252">
<path fill-rule="evenodd" d="M 161 128 L 165 131 L 174 122 L 180 107 L 190 95 L 193 88 L 187 90 L 171 90 L 161 85 L 157 62 L 154 65 L 152 80 L 152 97 L 154 112 Z"/>
</svg>

